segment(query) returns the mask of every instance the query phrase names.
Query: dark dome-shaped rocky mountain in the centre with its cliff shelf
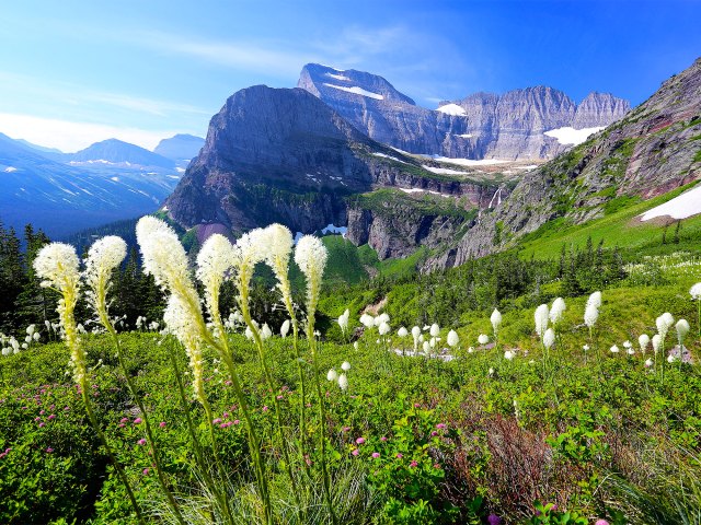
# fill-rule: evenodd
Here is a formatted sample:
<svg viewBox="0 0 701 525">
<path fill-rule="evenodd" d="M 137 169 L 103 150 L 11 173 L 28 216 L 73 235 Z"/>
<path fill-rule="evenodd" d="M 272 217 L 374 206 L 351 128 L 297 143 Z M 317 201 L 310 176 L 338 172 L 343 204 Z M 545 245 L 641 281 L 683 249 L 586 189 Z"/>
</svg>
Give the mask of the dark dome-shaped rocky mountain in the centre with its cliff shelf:
<svg viewBox="0 0 701 525">
<path fill-rule="evenodd" d="M 350 240 L 393 257 L 445 242 L 497 192 L 507 195 L 506 179 L 382 145 L 304 90 L 257 85 L 211 118 L 166 210 L 186 228 L 347 225 Z"/>
</svg>

